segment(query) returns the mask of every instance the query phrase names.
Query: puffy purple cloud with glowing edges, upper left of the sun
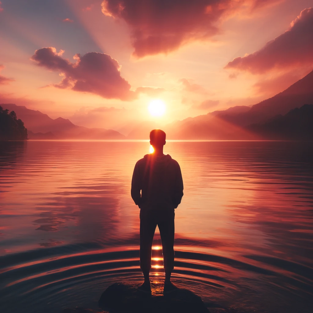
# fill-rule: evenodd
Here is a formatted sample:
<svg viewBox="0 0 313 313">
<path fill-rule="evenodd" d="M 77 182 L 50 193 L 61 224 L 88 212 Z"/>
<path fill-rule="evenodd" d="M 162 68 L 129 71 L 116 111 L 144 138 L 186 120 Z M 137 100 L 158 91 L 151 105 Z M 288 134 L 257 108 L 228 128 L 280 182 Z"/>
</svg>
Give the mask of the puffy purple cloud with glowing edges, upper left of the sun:
<svg viewBox="0 0 313 313">
<path fill-rule="evenodd" d="M 62 58 L 63 50 L 57 53 L 54 47 L 35 51 L 31 60 L 38 66 L 51 71 L 60 72 L 63 76 L 57 88 L 71 88 L 75 91 L 90 92 L 107 99 L 133 100 L 136 93 L 131 91 L 131 85 L 121 77 L 118 61 L 110 55 L 89 52 L 83 56 L 74 55 L 76 63 Z"/>
</svg>

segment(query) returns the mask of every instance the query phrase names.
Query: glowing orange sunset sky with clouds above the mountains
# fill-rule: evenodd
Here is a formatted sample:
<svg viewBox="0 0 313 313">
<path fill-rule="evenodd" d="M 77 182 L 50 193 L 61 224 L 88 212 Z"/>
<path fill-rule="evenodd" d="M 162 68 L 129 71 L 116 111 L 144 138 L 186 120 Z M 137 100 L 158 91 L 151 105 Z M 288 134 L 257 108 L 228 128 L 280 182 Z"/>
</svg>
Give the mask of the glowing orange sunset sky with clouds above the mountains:
<svg viewBox="0 0 313 313">
<path fill-rule="evenodd" d="M 116 130 L 253 105 L 313 69 L 310 7 L 312 0 L 1 0 L 0 103 Z M 151 101 L 164 113 L 151 115 Z"/>
</svg>

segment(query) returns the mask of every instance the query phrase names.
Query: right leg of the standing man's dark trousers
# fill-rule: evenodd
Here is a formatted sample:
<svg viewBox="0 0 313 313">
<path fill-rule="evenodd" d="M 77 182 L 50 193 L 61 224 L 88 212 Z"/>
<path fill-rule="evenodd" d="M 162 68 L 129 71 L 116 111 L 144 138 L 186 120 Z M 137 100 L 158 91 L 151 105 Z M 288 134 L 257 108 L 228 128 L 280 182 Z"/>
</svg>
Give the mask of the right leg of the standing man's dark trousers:
<svg viewBox="0 0 313 313">
<path fill-rule="evenodd" d="M 165 273 L 174 268 L 174 212 L 164 213 L 158 218 L 158 227 L 162 240 L 163 264 Z"/>
</svg>

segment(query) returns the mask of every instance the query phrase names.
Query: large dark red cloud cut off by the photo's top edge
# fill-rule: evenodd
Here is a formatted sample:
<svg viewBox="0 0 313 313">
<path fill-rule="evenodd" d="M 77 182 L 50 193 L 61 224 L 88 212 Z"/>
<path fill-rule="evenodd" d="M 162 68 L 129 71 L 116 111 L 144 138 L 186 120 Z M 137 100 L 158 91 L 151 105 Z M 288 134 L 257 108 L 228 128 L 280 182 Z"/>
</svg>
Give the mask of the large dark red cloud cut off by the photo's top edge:
<svg viewBox="0 0 313 313">
<path fill-rule="evenodd" d="M 168 53 L 191 40 L 218 32 L 216 22 L 243 4 L 264 6 L 281 0 L 104 0 L 102 12 L 130 26 L 134 55 Z"/>
</svg>

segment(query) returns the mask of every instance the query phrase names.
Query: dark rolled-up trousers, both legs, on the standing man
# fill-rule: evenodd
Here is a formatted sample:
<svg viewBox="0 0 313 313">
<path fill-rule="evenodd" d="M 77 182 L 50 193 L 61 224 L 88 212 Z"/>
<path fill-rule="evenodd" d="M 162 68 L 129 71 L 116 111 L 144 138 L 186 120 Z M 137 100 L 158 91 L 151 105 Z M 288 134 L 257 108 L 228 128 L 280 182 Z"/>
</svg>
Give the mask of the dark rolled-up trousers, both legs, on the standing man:
<svg viewBox="0 0 313 313">
<path fill-rule="evenodd" d="M 174 268 L 174 217 L 173 211 L 140 210 L 140 268 L 151 269 L 151 248 L 156 225 L 162 240 L 164 269 Z"/>
</svg>

